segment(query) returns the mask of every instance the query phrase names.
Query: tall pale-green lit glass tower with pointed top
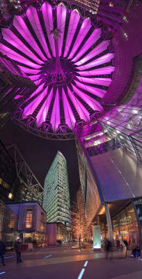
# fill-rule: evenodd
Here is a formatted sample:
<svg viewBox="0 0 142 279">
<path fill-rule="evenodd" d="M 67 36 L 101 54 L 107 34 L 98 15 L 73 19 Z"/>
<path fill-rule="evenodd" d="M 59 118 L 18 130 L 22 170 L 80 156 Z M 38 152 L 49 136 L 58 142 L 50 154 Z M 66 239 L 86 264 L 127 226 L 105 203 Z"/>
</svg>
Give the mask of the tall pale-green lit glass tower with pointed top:
<svg viewBox="0 0 142 279">
<path fill-rule="evenodd" d="M 65 157 L 59 151 L 45 177 L 44 188 L 42 206 L 47 213 L 47 222 L 61 222 L 70 229 L 68 169 Z"/>
</svg>

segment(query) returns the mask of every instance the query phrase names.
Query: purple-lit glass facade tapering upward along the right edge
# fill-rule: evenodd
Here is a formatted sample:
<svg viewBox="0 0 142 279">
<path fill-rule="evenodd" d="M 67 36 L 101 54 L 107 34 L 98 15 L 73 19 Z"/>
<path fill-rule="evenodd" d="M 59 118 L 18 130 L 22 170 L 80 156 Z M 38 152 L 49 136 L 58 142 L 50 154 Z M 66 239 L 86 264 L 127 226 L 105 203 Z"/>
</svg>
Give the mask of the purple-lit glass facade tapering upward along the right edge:
<svg viewBox="0 0 142 279">
<path fill-rule="evenodd" d="M 141 55 L 136 59 L 137 74 L 134 85 L 129 95 L 121 105 L 104 114 L 99 121 L 106 135 L 117 141 L 131 152 L 138 160 L 142 160 L 142 136 L 141 136 L 141 86 L 142 65 Z"/>
</svg>

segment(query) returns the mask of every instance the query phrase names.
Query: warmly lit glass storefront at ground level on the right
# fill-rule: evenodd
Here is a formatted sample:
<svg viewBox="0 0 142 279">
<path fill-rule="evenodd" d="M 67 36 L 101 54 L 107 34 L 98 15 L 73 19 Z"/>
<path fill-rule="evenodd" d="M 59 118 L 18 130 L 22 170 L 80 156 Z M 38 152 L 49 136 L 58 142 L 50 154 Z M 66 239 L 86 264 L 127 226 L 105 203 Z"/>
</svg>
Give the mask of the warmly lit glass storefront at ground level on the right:
<svg viewBox="0 0 142 279">
<path fill-rule="evenodd" d="M 110 206 L 111 207 L 111 206 Z M 110 211 L 111 212 L 111 211 Z M 111 216 L 113 246 L 121 246 L 120 240 L 127 241 L 130 248 L 141 246 L 142 230 L 142 202 L 129 202 L 123 209 L 117 209 L 117 213 Z M 107 217 L 101 220 L 100 228 L 102 242 L 109 238 Z"/>
</svg>

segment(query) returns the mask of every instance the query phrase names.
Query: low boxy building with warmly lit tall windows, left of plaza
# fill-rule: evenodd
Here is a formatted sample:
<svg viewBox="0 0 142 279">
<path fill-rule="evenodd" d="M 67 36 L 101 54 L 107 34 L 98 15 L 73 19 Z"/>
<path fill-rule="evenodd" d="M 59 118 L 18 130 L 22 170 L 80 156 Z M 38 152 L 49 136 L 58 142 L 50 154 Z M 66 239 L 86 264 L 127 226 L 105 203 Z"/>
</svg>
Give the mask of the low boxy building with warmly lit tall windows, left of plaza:
<svg viewBox="0 0 142 279">
<path fill-rule="evenodd" d="M 6 246 L 23 243 L 47 243 L 46 213 L 38 202 L 7 202 L 3 209 L 1 236 Z"/>
</svg>

